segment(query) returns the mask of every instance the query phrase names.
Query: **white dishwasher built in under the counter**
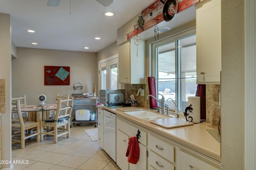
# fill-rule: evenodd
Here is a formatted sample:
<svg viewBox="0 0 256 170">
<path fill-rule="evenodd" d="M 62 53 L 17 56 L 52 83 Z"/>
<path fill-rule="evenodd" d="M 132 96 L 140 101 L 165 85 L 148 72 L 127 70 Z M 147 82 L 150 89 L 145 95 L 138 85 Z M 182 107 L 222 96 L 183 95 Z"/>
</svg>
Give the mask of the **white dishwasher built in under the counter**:
<svg viewBox="0 0 256 170">
<path fill-rule="evenodd" d="M 116 162 L 116 114 L 104 110 L 104 150 Z"/>
</svg>

